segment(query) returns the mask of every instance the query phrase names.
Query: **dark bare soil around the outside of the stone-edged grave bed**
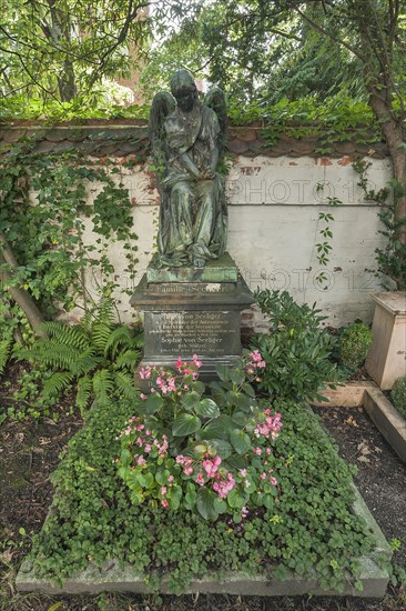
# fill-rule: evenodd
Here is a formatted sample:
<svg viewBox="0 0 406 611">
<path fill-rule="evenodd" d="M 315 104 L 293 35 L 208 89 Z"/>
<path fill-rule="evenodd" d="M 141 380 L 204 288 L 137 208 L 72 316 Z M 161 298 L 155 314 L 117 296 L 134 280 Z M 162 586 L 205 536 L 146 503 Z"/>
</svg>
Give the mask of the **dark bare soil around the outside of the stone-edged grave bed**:
<svg viewBox="0 0 406 611">
<path fill-rule="evenodd" d="M 9 371 L 10 379 L 18 371 Z M 7 394 L 7 397 L 6 397 Z M 9 402 L 10 388 L 0 389 L 0 404 Z M 30 549 L 52 500 L 49 475 L 58 464 L 68 440 L 82 425 L 70 413 L 70 400 L 59 408 L 59 419 L 27 418 L 6 421 L 0 428 L 1 485 L 1 588 L 0 610 L 4 611 L 207 611 L 207 610 L 313 610 L 313 611 L 405 611 L 406 589 L 389 587 L 383 601 L 356 599 L 256 597 L 151 597 L 102 594 L 99 597 L 47 597 L 19 594 L 14 588 L 18 568 Z M 358 467 L 355 478 L 369 510 L 388 541 L 398 540 L 397 563 L 406 568 L 406 468 L 386 444 L 362 409 L 317 408 L 326 428 L 335 438 L 341 454 Z"/>
</svg>

